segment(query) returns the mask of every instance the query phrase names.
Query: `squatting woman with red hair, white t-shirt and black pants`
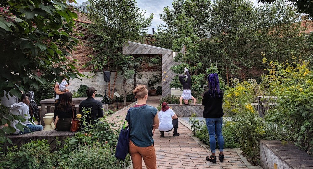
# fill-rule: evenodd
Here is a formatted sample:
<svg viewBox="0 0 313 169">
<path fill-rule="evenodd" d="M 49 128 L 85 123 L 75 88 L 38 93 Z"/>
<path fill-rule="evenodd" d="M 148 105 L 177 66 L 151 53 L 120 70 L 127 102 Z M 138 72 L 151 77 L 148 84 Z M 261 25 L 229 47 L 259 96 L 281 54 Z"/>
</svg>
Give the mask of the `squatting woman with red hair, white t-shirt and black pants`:
<svg viewBox="0 0 313 169">
<path fill-rule="evenodd" d="M 177 132 L 178 129 L 178 119 L 175 112 L 170 109 L 166 102 L 162 103 L 161 111 L 158 113 L 159 117 L 159 128 L 158 130 L 161 132 L 161 137 L 164 137 L 164 131 L 169 132 L 174 129 L 173 136 L 179 136 L 180 134 Z M 154 129 L 153 129 L 154 133 Z"/>
</svg>

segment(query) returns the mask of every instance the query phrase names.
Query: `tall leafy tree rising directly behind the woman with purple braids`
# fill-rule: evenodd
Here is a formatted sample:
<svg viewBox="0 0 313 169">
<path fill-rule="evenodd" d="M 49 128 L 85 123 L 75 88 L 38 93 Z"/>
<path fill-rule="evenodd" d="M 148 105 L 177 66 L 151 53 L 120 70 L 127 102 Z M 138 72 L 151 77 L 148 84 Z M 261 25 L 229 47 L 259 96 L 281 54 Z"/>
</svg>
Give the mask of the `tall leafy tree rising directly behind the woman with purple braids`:
<svg viewBox="0 0 313 169">
<path fill-rule="evenodd" d="M 208 39 L 201 45 L 201 58 L 204 65 L 216 60 L 223 75 L 228 79 L 241 69 L 249 67 L 252 59 L 248 57 L 253 49 L 257 33 L 255 10 L 247 0 L 217 0 L 211 6 L 208 21 Z"/>
</svg>

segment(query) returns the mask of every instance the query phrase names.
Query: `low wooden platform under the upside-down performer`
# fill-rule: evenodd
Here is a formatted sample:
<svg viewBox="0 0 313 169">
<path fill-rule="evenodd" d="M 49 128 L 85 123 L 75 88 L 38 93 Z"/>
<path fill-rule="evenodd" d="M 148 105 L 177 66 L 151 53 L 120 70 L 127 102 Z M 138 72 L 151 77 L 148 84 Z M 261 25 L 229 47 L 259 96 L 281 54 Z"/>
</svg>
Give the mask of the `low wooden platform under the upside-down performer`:
<svg viewBox="0 0 313 169">
<path fill-rule="evenodd" d="M 197 117 L 203 116 L 203 105 L 168 104 L 168 106 L 171 107 L 177 117 L 190 117 L 192 113 L 195 113 Z"/>
</svg>

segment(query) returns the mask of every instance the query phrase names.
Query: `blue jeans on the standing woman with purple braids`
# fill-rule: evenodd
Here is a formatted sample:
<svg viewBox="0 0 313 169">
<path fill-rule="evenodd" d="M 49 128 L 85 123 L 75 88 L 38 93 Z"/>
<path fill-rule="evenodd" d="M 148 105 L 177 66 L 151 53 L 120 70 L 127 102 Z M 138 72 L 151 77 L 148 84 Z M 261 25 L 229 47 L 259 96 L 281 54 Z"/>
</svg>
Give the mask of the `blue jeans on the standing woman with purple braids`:
<svg viewBox="0 0 313 169">
<path fill-rule="evenodd" d="M 220 152 L 223 152 L 223 149 L 224 149 L 224 138 L 222 136 L 223 117 L 205 118 L 205 122 L 206 122 L 206 128 L 208 129 L 208 133 L 209 133 L 211 152 L 215 153 L 215 146 L 216 146 L 215 135 L 217 137 L 219 150 Z"/>
</svg>

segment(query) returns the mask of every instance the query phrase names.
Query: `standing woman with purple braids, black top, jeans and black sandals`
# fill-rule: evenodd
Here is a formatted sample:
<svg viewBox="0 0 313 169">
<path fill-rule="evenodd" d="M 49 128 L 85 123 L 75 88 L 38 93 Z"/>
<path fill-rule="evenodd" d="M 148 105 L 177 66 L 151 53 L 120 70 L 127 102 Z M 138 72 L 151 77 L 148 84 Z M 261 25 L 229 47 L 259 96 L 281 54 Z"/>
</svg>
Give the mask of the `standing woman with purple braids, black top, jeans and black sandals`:
<svg viewBox="0 0 313 169">
<path fill-rule="evenodd" d="M 215 156 L 215 135 L 217 137 L 217 143 L 219 145 L 219 160 L 223 162 L 223 148 L 224 138 L 222 136 L 222 123 L 224 115 L 222 108 L 223 91 L 220 90 L 220 84 L 217 73 L 211 73 L 208 75 L 209 90 L 203 95 L 202 105 L 204 105 L 203 117 L 206 121 L 206 127 L 209 132 L 210 149 L 212 155 L 207 156 L 206 160 L 216 163 Z"/>
</svg>

